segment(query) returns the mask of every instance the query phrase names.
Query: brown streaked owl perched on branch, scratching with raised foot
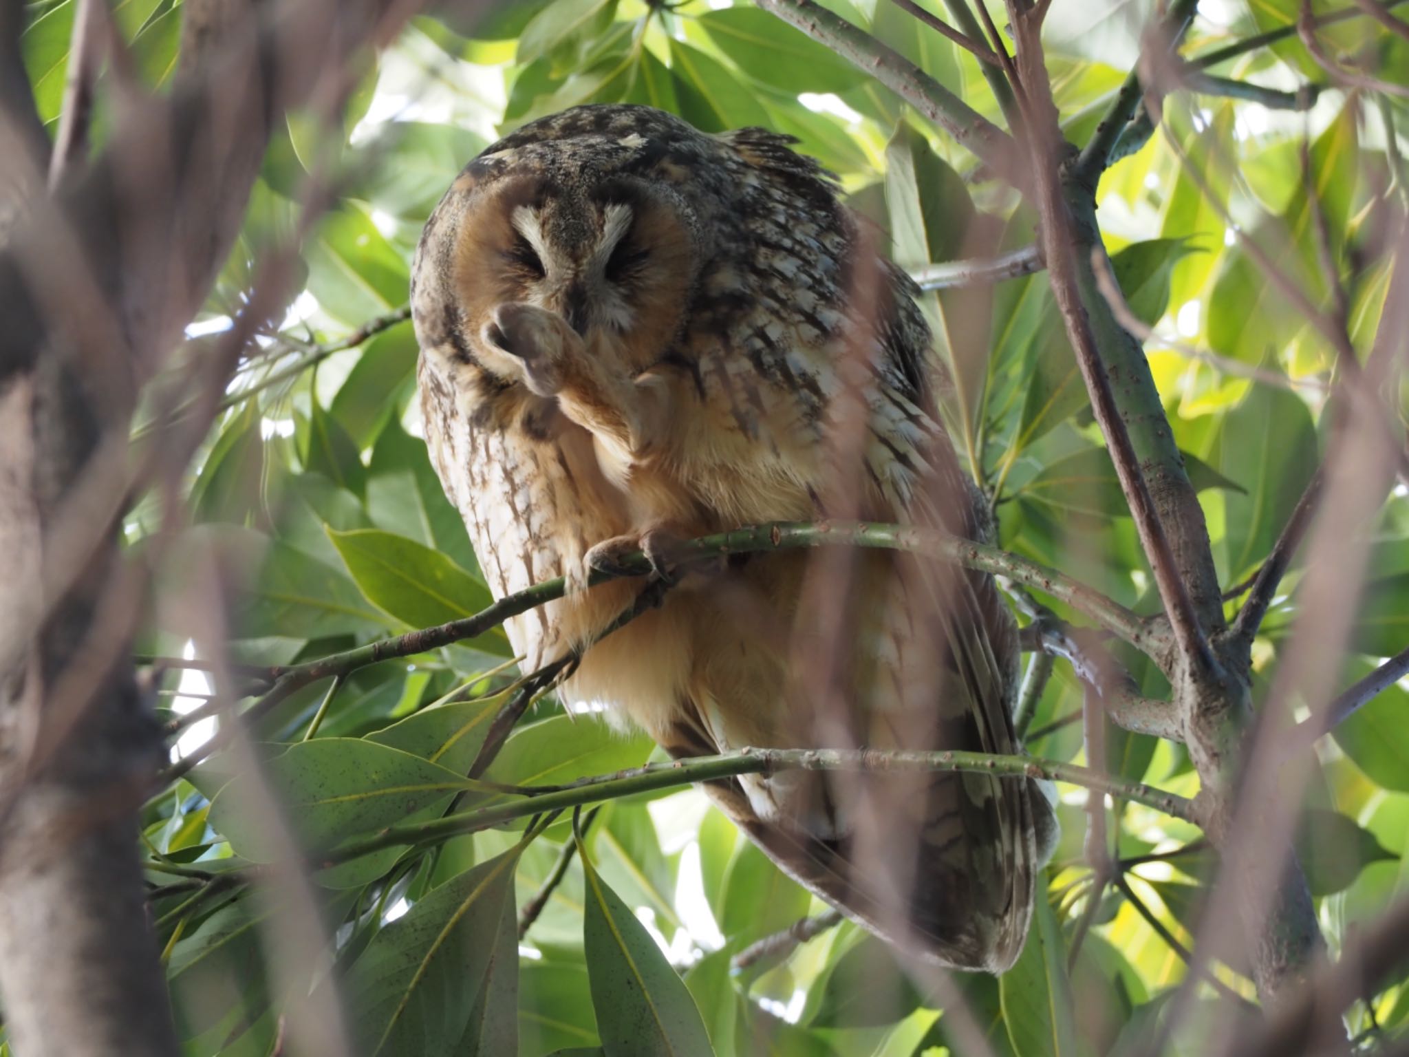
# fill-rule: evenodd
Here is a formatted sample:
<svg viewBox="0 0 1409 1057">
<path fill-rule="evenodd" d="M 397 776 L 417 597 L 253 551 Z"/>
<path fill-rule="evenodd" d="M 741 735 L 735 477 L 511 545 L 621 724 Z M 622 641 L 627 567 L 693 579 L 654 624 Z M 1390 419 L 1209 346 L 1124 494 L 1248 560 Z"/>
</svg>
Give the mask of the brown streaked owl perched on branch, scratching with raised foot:
<svg viewBox="0 0 1409 1057">
<path fill-rule="evenodd" d="M 411 319 L 431 461 L 527 669 L 676 758 L 738 750 L 1014 751 L 1017 636 L 986 575 L 889 551 L 776 551 L 586 588 L 645 550 L 771 520 L 965 536 L 985 505 L 938 419 L 919 290 L 831 178 L 761 128 L 641 106 L 533 121 L 459 173 L 420 240 Z M 878 934 L 1002 971 L 1051 809 L 1026 778 L 786 771 L 706 792 L 779 867 Z"/>
</svg>

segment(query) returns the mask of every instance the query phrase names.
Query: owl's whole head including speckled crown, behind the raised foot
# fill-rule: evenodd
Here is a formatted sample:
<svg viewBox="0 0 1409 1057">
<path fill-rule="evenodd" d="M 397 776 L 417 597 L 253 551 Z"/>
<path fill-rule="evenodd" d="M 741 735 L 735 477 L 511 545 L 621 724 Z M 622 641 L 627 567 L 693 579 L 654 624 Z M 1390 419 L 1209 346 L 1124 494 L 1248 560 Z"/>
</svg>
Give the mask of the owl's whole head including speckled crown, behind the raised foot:
<svg viewBox="0 0 1409 1057">
<path fill-rule="evenodd" d="M 566 137 L 490 148 L 466 168 L 427 225 L 417 266 L 434 297 L 416 300 L 435 302 L 437 328 L 452 331 L 442 348 L 519 381 L 496 319 L 527 303 L 628 373 L 665 355 L 696 276 L 697 224 L 672 186 L 602 161 Z"/>
</svg>

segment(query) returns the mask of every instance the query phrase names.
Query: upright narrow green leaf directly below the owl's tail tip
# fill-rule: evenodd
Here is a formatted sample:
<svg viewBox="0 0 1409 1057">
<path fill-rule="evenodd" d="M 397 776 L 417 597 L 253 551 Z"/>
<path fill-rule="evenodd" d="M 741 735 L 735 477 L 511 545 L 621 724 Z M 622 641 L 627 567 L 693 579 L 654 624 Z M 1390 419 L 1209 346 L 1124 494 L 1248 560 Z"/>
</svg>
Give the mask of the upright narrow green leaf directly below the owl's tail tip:
<svg viewBox="0 0 1409 1057">
<path fill-rule="evenodd" d="M 1017 1057 L 1075 1057 L 1076 1026 L 1072 1020 L 1071 984 L 1067 979 L 1067 947 L 1057 916 L 1038 892 L 1027 943 L 1013 967 L 999 981 L 1003 1023 Z"/>
</svg>

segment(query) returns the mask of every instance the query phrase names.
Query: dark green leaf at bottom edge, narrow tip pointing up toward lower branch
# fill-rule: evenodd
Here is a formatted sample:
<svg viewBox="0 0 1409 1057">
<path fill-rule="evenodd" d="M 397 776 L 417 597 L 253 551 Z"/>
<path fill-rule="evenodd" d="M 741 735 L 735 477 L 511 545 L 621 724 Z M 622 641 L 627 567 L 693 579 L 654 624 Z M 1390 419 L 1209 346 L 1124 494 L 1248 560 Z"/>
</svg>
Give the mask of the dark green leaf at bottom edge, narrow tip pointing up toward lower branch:
<svg viewBox="0 0 1409 1057">
<path fill-rule="evenodd" d="M 607 1057 L 713 1057 L 685 982 L 585 851 L 582 870 L 588 881 L 582 943 Z"/>
</svg>

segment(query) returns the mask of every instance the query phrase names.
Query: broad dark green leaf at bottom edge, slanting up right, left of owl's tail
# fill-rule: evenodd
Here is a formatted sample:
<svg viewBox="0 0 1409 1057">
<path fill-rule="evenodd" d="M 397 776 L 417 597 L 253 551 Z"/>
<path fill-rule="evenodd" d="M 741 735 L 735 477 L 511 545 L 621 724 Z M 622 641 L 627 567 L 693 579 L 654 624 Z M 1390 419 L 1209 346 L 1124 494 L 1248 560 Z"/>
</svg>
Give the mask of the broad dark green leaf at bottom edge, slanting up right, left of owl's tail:
<svg viewBox="0 0 1409 1057">
<path fill-rule="evenodd" d="M 464 1053 L 472 999 L 500 957 L 513 915 L 514 847 L 420 899 L 383 927 L 344 985 L 369 1057 Z M 496 937 L 486 941 L 488 937 Z"/>
</svg>

